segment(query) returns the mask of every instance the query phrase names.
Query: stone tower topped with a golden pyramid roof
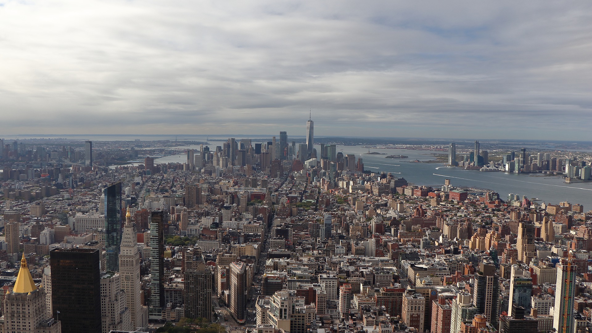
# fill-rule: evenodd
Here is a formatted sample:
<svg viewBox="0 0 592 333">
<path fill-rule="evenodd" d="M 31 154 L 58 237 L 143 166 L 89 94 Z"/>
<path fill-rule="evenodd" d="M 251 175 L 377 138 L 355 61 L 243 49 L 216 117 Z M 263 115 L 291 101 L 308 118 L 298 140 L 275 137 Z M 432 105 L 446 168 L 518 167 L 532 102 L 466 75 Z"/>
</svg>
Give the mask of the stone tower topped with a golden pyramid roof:
<svg viewBox="0 0 592 333">
<path fill-rule="evenodd" d="M 33 281 L 24 254 L 22 254 L 17 281 L 15 281 L 12 290 L 8 289 L 3 302 L 4 327 L 2 332 L 60 333 L 62 331 L 61 323 L 55 321 L 47 313 L 45 290 L 43 286 L 37 287 Z"/>
</svg>

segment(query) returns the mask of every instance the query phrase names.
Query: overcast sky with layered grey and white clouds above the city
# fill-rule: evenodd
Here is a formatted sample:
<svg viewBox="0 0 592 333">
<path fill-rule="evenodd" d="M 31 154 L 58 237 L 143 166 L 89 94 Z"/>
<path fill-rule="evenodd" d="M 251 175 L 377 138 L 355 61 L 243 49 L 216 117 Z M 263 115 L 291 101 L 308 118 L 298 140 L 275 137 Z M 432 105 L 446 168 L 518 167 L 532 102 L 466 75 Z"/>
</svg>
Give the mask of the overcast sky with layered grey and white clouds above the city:
<svg viewBox="0 0 592 333">
<path fill-rule="evenodd" d="M 0 134 L 590 140 L 592 1 L 0 0 Z"/>
</svg>

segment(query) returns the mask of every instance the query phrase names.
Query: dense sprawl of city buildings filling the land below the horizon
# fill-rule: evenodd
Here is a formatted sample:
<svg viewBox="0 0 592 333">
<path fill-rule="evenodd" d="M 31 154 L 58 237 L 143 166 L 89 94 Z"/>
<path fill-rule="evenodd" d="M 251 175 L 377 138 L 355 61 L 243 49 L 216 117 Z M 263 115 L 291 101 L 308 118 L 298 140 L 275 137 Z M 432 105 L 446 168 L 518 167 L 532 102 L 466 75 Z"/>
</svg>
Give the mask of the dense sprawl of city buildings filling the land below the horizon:
<svg viewBox="0 0 592 333">
<path fill-rule="evenodd" d="M 85 142 L 5 145 L 3 331 L 589 332 L 589 207 L 452 177 L 413 184 L 377 167 L 424 165 L 408 156 L 315 146 L 312 120 L 302 132 L 127 150 L 94 141 L 88 154 Z M 432 149 L 430 175 L 584 182 L 592 161 L 474 140 L 405 147 Z M 31 324 L 12 323 L 28 304 Z"/>
</svg>

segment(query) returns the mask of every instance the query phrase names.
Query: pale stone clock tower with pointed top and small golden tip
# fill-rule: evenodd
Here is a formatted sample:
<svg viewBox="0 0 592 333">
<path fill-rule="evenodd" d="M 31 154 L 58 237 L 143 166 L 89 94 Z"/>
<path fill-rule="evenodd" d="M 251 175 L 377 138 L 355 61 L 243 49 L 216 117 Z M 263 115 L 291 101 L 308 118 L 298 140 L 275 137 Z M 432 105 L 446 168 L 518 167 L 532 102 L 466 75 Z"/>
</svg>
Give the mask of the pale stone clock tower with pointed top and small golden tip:
<svg viewBox="0 0 592 333">
<path fill-rule="evenodd" d="M 130 210 L 127 210 L 126 225 L 121 238 L 121 253 L 119 255 L 119 273 L 121 275 L 121 289 L 126 292 L 126 306 L 130 309 L 131 327 L 146 327 L 148 324 L 147 308 L 141 300 L 140 252 L 136 231 L 131 224 Z"/>
</svg>

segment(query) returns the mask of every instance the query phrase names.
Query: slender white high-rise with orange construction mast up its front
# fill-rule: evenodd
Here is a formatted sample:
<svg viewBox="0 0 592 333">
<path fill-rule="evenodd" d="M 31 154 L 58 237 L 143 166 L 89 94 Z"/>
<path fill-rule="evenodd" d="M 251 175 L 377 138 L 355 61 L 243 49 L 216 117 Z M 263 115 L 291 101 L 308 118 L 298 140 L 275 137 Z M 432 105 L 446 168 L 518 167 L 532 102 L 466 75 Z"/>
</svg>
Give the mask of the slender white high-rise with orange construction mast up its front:
<svg viewBox="0 0 592 333">
<path fill-rule="evenodd" d="M 556 333 L 574 333 L 574 298 L 576 265 L 562 258 L 555 268 L 557 281 L 555 307 L 553 308 L 553 328 Z"/>
</svg>

